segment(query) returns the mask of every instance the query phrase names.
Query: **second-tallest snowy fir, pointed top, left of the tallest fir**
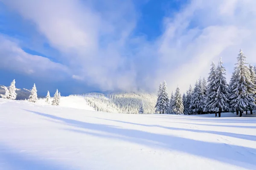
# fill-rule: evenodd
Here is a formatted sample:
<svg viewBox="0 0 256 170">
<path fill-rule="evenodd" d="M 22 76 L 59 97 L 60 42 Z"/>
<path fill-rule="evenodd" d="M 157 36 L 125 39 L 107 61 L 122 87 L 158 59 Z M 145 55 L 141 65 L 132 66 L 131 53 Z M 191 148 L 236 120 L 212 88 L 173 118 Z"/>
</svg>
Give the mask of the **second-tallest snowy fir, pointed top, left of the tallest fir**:
<svg viewBox="0 0 256 170">
<path fill-rule="evenodd" d="M 223 67 L 223 62 L 218 63 L 216 69 L 216 96 L 212 103 L 213 111 L 218 112 L 218 116 L 221 117 L 221 112 L 229 110 L 229 93 L 227 88 L 226 69 Z"/>
</svg>

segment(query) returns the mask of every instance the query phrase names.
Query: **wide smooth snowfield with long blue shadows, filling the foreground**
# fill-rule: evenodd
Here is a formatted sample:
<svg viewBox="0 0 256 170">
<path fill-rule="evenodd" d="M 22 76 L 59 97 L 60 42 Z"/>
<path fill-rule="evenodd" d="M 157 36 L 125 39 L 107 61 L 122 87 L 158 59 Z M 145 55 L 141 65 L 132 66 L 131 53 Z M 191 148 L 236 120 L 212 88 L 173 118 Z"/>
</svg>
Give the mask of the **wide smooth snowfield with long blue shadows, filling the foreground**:
<svg viewBox="0 0 256 170">
<path fill-rule="evenodd" d="M 0 99 L 0 170 L 256 170 L 255 113 L 222 116 Z"/>
</svg>

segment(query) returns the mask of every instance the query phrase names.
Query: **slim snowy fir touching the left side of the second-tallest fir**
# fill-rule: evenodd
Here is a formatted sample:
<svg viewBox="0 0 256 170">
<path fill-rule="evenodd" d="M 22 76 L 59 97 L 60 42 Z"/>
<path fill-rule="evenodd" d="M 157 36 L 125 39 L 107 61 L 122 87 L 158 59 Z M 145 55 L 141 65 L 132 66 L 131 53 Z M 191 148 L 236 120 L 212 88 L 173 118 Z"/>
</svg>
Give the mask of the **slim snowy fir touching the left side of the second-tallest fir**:
<svg viewBox="0 0 256 170">
<path fill-rule="evenodd" d="M 217 75 L 216 75 L 216 67 L 214 62 L 212 61 L 211 69 L 209 72 L 209 77 L 207 79 L 208 85 L 207 85 L 207 95 L 206 95 L 206 106 L 204 108 L 204 112 L 214 112 L 215 106 L 213 103 L 215 102 L 216 97 L 216 81 L 217 81 Z M 215 116 L 217 116 L 217 113 L 215 113 Z"/>
</svg>

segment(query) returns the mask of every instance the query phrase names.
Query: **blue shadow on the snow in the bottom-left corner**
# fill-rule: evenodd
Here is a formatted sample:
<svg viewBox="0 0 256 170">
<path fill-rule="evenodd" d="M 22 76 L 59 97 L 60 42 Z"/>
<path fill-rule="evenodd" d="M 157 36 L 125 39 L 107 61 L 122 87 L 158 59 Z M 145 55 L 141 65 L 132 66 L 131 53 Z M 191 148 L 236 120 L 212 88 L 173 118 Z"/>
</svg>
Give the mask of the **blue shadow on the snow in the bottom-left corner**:
<svg viewBox="0 0 256 170">
<path fill-rule="evenodd" d="M 14 151 L 5 144 L 0 144 L 0 169 L 4 170 L 71 170 L 61 167 L 61 164 L 52 164 L 45 160 L 35 159 L 21 152 Z"/>
</svg>

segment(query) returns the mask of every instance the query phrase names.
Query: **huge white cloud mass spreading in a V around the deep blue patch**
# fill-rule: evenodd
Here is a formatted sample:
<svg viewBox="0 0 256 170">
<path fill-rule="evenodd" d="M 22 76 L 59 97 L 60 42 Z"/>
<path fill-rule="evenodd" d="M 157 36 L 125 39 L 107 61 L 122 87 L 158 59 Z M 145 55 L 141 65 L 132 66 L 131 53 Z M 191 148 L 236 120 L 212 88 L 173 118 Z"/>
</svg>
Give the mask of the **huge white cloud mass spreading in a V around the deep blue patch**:
<svg viewBox="0 0 256 170">
<path fill-rule="evenodd" d="M 239 48 L 256 64 L 255 0 L 191 0 L 177 14 L 163 18 L 162 34 L 151 41 L 134 35 L 140 14 L 132 0 L 1 1 L 35 24 L 61 53 L 58 64 L 23 51 L 30 60 L 44 61 L 41 68 L 24 71 L 27 74 L 56 69 L 102 90 L 126 91 L 154 91 L 165 79 L 169 91 L 177 85 L 186 91 L 196 79 L 207 77 L 211 61 L 219 57 L 229 79 Z"/>
</svg>

